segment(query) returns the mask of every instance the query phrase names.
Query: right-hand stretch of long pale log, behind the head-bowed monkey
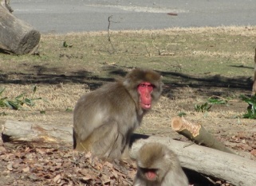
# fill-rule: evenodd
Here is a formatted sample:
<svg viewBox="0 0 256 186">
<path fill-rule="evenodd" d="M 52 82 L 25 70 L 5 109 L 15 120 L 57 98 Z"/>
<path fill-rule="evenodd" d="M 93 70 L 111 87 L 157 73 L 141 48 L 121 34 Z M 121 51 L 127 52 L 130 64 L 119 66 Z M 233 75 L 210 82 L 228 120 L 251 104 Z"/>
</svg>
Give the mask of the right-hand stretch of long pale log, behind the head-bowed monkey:
<svg viewBox="0 0 256 186">
<path fill-rule="evenodd" d="M 131 157 L 136 157 L 136 152 L 145 142 L 160 142 L 178 155 L 184 168 L 229 181 L 236 186 L 255 185 L 256 183 L 255 161 L 201 145 L 189 145 L 187 142 L 175 141 L 170 138 L 156 136 L 145 138 L 144 135 L 136 138 L 139 140 L 132 143 Z"/>
</svg>

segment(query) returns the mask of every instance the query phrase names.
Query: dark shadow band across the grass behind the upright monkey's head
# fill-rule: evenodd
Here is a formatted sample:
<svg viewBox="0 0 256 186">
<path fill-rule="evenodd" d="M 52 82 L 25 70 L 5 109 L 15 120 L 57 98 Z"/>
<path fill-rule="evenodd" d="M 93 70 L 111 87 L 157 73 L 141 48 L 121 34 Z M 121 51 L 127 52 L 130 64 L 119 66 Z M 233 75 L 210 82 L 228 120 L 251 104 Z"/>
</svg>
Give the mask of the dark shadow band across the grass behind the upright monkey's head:
<svg viewBox="0 0 256 186">
<path fill-rule="evenodd" d="M 238 68 L 244 68 L 239 66 Z M 33 66 L 30 73 L 18 72 L 1 72 L 0 83 L 17 83 L 17 84 L 33 84 L 33 83 L 86 83 L 90 89 L 100 87 L 103 83 L 111 82 L 116 76 L 125 76 L 129 68 L 116 65 L 107 66 L 102 69 L 106 72 L 107 77 L 101 76 L 93 72 L 85 70 L 74 71 L 70 69 L 65 74 L 57 68 L 46 68 L 42 65 Z M 177 87 L 191 88 L 229 88 L 238 91 L 250 91 L 253 80 L 246 76 L 224 77 L 224 76 L 194 76 L 187 75 L 182 72 L 160 72 L 163 78 L 163 94 L 171 95 L 171 90 Z M 220 93 L 221 94 L 221 93 Z"/>
</svg>

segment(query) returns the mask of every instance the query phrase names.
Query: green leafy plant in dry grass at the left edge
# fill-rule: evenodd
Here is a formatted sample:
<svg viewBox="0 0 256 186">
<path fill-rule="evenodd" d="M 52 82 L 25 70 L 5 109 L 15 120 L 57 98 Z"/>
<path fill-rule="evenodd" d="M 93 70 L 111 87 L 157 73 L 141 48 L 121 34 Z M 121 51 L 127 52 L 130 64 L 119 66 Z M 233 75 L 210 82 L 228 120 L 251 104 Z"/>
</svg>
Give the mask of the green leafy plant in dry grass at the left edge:
<svg viewBox="0 0 256 186">
<path fill-rule="evenodd" d="M 0 96 L 2 95 L 2 92 L 5 90 L 6 88 L 3 88 L 0 91 Z M 21 110 L 23 105 L 33 107 L 35 105 L 34 101 L 41 99 L 41 98 L 33 97 L 36 91 L 37 91 L 37 87 L 34 86 L 32 98 L 26 98 L 25 93 L 22 93 L 21 95 L 16 96 L 14 99 L 8 99 L 7 97 L 0 98 L 0 107 L 8 107 L 14 110 Z"/>
</svg>

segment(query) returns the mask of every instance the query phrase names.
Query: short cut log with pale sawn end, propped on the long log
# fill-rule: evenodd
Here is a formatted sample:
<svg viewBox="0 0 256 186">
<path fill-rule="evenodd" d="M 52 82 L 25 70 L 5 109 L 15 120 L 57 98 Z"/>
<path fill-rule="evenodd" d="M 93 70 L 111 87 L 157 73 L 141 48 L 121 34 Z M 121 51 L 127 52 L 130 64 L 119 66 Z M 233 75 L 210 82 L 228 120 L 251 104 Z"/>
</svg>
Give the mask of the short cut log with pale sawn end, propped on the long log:
<svg viewBox="0 0 256 186">
<path fill-rule="evenodd" d="M 194 141 L 199 145 L 206 145 L 211 149 L 218 149 L 226 153 L 234 153 L 231 149 L 228 149 L 223 143 L 218 141 L 213 135 L 201 125 L 188 122 L 183 117 L 173 117 L 171 119 L 171 129 L 177 133 L 182 134 L 191 141 Z"/>
</svg>

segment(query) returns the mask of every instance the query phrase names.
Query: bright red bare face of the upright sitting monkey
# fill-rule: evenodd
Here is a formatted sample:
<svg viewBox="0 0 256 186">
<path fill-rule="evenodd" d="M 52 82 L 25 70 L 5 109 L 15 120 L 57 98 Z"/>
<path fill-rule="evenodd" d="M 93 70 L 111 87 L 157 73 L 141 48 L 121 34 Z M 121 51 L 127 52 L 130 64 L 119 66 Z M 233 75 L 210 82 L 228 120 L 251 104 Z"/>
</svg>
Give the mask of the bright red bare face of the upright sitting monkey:
<svg viewBox="0 0 256 186">
<path fill-rule="evenodd" d="M 144 110 L 151 109 L 152 107 L 152 96 L 151 93 L 154 89 L 152 83 L 143 82 L 138 86 L 138 92 L 140 94 L 140 107 Z"/>
</svg>

